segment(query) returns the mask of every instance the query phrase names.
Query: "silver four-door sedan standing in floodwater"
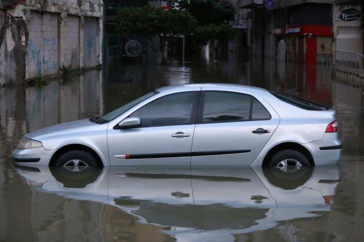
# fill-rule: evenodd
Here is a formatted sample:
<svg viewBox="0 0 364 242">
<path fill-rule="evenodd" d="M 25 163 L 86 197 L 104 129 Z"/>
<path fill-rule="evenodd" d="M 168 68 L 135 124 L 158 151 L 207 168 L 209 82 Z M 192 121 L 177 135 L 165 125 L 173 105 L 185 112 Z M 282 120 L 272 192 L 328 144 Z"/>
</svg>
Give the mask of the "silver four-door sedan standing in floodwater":
<svg viewBox="0 0 364 242">
<path fill-rule="evenodd" d="M 232 84 L 168 86 L 104 115 L 25 135 L 19 165 L 278 166 L 338 163 L 335 111 Z"/>
</svg>

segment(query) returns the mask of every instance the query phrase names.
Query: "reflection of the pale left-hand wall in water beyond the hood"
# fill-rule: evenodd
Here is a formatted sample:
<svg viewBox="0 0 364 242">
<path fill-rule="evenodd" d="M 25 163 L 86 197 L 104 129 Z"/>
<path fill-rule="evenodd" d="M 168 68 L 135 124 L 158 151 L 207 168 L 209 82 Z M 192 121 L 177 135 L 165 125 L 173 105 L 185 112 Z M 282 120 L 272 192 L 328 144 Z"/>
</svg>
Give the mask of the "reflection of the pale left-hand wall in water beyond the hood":
<svg viewBox="0 0 364 242">
<path fill-rule="evenodd" d="M 60 122 L 74 121 L 103 112 L 102 79 L 99 71 L 71 76 L 26 90 L 29 131 Z"/>
</svg>

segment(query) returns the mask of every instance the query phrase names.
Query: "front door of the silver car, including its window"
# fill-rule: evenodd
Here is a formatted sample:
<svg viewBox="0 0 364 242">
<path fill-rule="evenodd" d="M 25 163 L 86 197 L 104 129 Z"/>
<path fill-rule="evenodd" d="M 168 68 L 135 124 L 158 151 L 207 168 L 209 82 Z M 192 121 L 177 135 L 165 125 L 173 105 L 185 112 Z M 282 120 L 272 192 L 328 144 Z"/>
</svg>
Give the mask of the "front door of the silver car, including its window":
<svg viewBox="0 0 364 242">
<path fill-rule="evenodd" d="M 137 127 L 108 128 L 112 166 L 190 166 L 200 91 L 162 96 L 134 111 Z"/>
</svg>

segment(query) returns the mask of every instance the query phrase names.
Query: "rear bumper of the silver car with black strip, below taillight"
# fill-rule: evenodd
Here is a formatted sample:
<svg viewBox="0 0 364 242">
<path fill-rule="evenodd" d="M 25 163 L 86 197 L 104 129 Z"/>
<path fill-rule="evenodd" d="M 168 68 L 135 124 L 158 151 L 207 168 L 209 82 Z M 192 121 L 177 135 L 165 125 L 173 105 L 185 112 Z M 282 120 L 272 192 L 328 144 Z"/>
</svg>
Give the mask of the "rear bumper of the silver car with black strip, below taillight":
<svg viewBox="0 0 364 242">
<path fill-rule="evenodd" d="M 341 140 L 338 133 L 326 133 L 322 139 L 303 145 L 311 152 L 315 165 L 332 165 L 340 161 Z"/>
</svg>

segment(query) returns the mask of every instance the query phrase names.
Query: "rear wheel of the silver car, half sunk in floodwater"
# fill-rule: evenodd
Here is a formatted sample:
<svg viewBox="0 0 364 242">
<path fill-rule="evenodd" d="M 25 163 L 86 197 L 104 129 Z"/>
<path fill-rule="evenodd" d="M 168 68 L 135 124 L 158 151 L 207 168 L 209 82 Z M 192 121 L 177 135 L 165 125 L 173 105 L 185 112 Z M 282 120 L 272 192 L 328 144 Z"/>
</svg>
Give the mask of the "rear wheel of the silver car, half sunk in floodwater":
<svg viewBox="0 0 364 242">
<path fill-rule="evenodd" d="M 299 151 L 283 150 L 275 153 L 269 166 L 276 166 L 283 172 L 295 172 L 302 166 L 311 166 L 307 157 Z"/>
</svg>

